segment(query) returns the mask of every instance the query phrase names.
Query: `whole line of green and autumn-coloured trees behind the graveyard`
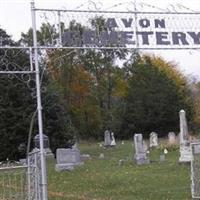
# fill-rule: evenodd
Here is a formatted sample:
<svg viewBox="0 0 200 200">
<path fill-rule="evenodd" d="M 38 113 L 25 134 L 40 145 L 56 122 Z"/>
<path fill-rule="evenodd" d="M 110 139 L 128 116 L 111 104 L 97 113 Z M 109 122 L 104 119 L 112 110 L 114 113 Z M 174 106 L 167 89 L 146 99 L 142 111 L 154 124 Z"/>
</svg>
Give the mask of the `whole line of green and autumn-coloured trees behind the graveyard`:
<svg viewBox="0 0 200 200">
<path fill-rule="evenodd" d="M 105 31 L 102 19 L 91 23 L 100 24 Z M 84 29 L 75 21 L 68 27 L 77 28 Z M 3 29 L 0 35 L 9 38 L 13 45 L 32 45 L 32 29 L 22 33 L 17 42 Z M 43 24 L 37 31 L 38 42 L 51 42 L 50 35 L 56 35 L 54 27 Z M 20 65 L 29 59 L 27 52 L 18 57 L 12 54 L 9 63 Z M 4 50 L 0 50 L 0 57 L 5 58 Z M 76 139 L 102 140 L 106 129 L 113 131 L 118 139 L 132 138 L 134 133 L 147 137 L 152 131 L 160 137 L 169 131 L 178 133 L 181 109 L 187 113 L 190 130 L 198 132 L 199 82 L 191 81 L 174 63 L 161 57 L 135 50 L 56 49 L 40 52 L 40 70 L 45 88 L 42 90 L 44 133 L 49 136 L 53 152 L 58 147 L 70 146 Z M 18 159 L 24 154 L 36 110 L 30 88 L 19 79 L 18 75 L 0 78 L 1 160 Z M 35 119 L 31 137 L 37 133 Z"/>
</svg>

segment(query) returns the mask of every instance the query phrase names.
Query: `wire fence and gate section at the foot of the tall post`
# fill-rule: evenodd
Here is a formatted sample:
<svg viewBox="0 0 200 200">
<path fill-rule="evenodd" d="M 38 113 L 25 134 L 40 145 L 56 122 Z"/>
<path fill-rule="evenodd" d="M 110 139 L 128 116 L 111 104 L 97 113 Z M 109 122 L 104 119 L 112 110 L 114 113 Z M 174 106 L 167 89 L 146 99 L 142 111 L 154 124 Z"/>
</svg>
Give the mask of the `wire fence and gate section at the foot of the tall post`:
<svg viewBox="0 0 200 200">
<path fill-rule="evenodd" d="M 29 154 L 27 163 L 0 164 L 0 200 L 40 200 L 39 151 Z"/>
</svg>

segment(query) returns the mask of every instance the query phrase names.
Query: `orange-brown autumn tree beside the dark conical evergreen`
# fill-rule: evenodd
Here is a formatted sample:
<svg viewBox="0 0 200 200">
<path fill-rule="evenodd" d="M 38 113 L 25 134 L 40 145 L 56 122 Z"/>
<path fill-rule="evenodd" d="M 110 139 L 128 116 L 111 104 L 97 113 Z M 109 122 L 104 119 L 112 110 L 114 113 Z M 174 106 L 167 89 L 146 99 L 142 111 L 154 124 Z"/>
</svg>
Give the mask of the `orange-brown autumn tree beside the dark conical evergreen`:
<svg viewBox="0 0 200 200">
<path fill-rule="evenodd" d="M 65 57 L 63 54 L 59 51 L 51 52 L 47 70 L 52 82 L 62 93 L 63 102 L 78 135 L 82 138 L 92 137 L 100 126 L 97 101 L 92 96 L 94 79 L 82 65 L 74 62 L 73 55 Z"/>
</svg>

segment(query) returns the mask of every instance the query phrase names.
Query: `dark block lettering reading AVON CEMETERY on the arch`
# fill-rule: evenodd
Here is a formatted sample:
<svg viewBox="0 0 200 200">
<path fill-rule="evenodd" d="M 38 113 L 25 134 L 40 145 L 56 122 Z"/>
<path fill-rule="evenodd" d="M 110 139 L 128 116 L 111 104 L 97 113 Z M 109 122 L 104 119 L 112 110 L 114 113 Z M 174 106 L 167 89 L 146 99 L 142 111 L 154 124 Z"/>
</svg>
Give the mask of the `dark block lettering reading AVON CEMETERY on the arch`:
<svg viewBox="0 0 200 200">
<path fill-rule="evenodd" d="M 64 46 L 191 46 L 200 44 L 200 32 L 194 30 L 176 31 L 167 26 L 166 19 L 108 18 L 105 31 L 66 31 Z M 174 30 L 172 31 L 172 29 Z M 100 28 L 99 28 L 100 29 Z M 123 29 L 123 30 L 122 30 Z"/>
</svg>

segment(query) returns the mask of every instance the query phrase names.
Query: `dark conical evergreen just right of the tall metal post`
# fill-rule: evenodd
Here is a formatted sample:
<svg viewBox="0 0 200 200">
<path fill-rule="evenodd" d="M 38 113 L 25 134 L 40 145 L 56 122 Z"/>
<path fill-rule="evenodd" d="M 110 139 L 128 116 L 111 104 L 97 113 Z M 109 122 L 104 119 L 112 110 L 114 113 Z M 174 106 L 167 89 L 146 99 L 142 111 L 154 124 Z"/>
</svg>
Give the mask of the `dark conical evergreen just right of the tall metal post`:
<svg viewBox="0 0 200 200">
<path fill-rule="evenodd" d="M 57 87 L 46 80 L 46 88 L 42 98 L 44 134 L 49 137 L 51 150 L 55 154 L 57 148 L 71 147 L 77 132 Z M 34 132 L 38 133 L 36 127 Z"/>
</svg>

